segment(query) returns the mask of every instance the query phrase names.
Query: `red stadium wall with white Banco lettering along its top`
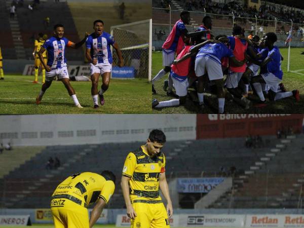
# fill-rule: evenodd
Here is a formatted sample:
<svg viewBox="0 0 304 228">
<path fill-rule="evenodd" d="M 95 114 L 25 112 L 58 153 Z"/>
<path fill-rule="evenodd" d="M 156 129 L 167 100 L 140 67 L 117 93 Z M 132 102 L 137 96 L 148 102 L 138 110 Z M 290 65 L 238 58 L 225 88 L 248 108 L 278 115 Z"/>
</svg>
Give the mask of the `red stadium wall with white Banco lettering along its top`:
<svg viewBox="0 0 304 228">
<path fill-rule="evenodd" d="M 301 132 L 303 114 L 199 114 L 197 139 L 274 135 L 278 129 L 292 127 Z"/>
</svg>

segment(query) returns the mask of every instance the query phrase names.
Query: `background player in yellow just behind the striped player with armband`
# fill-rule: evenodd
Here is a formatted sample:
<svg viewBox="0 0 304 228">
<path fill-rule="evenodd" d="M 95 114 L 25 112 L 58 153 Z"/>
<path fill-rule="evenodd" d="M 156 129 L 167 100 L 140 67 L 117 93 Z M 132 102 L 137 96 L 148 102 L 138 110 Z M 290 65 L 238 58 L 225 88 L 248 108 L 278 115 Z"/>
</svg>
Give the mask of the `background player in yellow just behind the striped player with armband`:
<svg viewBox="0 0 304 228">
<path fill-rule="evenodd" d="M 38 83 L 39 67 L 41 67 L 41 69 L 42 69 L 42 83 L 45 83 L 46 82 L 46 70 L 39 59 L 38 52 L 40 51 L 41 47 L 43 46 L 43 44 L 45 43 L 45 41 L 47 40 L 48 37 L 45 36 L 43 33 L 39 33 L 38 36 L 39 37 L 35 40 L 35 47 L 33 50 L 33 56 L 34 56 L 34 60 L 35 60 L 35 79 L 34 79 L 33 83 Z M 42 56 L 43 56 L 44 60 L 47 62 L 47 52 L 44 52 L 42 54 Z"/>
</svg>

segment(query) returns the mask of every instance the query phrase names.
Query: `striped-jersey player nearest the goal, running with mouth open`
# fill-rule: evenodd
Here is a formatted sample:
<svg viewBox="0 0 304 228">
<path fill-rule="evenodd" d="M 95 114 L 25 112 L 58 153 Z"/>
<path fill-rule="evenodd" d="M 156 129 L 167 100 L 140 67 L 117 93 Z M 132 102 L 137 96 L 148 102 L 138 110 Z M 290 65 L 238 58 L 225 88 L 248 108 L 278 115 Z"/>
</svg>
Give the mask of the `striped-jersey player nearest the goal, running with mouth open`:
<svg viewBox="0 0 304 228">
<path fill-rule="evenodd" d="M 89 35 L 86 41 L 86 57 L 91 65 L 91 94 L 94 103 L 94 108 L 98 108 L 98 95 L 101 105 L 104 104 L 103 93 L 108 89 L 110 83 L 110 73 L 112 69 L 112 54 L 110 46 L 112 46 L 119 58 L 118 65 L 124 65 L 124 59 L 119 49 L 117 42 L 113 37 L 103 31 L 103 21 L 96 20 L 93 22 L 95 32 Z M 99 75 L 102 77 L 102 85 L 98 91 Z"/>
</svg>

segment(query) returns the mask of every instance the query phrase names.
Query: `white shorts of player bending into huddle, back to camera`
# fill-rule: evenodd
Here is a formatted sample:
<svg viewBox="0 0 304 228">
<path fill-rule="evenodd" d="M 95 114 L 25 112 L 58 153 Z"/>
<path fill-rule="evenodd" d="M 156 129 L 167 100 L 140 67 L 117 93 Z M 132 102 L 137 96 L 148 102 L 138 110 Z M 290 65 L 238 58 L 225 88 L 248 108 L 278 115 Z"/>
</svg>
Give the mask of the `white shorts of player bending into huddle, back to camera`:
<svg viewBox="0 0 304 228">
<path fill-rule="evenodd" d="M 206 72 L 210 81 L 224 78 L 220 60 L 214 55 L 199 53 L 195 59 L 195 74 L 201 77 Z"/>
</svg>

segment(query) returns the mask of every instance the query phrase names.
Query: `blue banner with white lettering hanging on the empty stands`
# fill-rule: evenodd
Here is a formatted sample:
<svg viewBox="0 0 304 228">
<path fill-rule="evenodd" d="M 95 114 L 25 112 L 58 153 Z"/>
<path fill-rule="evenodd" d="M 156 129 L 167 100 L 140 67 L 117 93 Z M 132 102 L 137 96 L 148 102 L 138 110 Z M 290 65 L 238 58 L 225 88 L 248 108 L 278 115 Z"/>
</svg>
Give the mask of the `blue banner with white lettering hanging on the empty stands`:
<svg viewBox="0 0 304 228">
<path fill-rule="evenodd" d="M 224 181 L 221 177 L 206 178 L 178 178 L 178 193 L 208 193 L 216 185 Z"/>
</svg>

